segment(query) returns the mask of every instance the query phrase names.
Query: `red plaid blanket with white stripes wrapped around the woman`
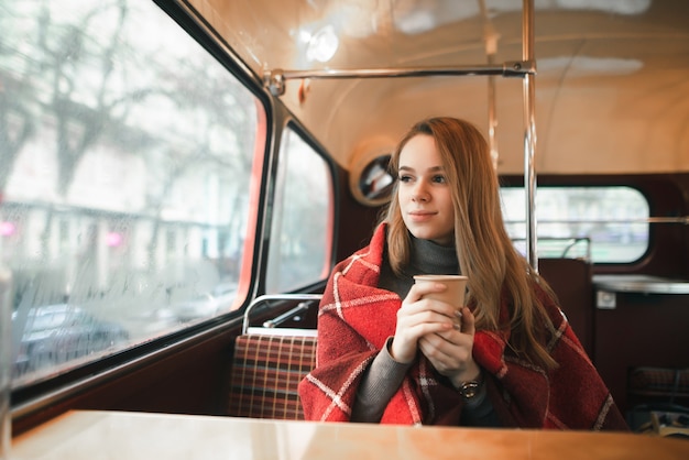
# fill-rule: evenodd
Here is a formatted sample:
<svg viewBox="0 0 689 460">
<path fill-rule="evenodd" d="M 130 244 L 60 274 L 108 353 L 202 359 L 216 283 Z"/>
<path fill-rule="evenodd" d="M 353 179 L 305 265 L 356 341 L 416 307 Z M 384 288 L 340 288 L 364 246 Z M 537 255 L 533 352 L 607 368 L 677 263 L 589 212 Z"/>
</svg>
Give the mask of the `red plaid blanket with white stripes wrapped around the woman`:
<svg viewBox="0 0 689 460">
<path fill-rule="evenodd" d="M 348 421 L 361 375 L 395 332 L 400 296 L 375 287 L 385 227 L 333 270 L 319 307 L 316 368 L 299 383 L 307 420 Z M 506 305 L 502 306 L 506 313 Z M 547 304 L 557 333 L 547 343 L 558 369 L 510 352 L 508 331 L 478 331 L 473 355 L 504 426 L 624 429 L 626 424 L 560 309 Z M 459 425 L 461 401 L 423 355 L 387 404 L 381 423 Z"/>
</svg>

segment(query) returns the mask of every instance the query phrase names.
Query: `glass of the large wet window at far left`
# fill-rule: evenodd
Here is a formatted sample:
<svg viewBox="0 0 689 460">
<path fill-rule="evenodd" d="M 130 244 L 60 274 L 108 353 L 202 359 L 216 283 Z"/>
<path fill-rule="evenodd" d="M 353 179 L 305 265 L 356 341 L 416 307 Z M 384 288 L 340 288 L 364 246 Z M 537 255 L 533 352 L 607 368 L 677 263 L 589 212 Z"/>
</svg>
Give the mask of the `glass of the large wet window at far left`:
<svg viewBox="0 0 689 460">
<path fill-rule="evenodd" d="M 14 386 L 237 306 L 263 112 L 152 1 L 0 1 Z"/>
</svg>

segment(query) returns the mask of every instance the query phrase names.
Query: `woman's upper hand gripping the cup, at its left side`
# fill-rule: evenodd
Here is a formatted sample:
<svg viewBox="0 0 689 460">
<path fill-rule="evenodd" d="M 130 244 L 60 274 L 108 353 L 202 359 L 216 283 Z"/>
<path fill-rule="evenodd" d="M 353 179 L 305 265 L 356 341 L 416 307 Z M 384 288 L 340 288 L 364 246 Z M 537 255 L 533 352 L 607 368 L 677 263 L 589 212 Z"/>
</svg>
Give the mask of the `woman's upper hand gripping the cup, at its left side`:
<svg viewBox="0 0 689 460">
<path fill-rule="evenodd" d="M 397 327 L 390 354 L 400 363 L 411 363 L 418 351 L 418 339 L 427 333 L 444 332 L 453 328 L 457 306 L 424 297 L 440 293 L 442 283 L 414 284 L 397 310 Z"/>
</svg>

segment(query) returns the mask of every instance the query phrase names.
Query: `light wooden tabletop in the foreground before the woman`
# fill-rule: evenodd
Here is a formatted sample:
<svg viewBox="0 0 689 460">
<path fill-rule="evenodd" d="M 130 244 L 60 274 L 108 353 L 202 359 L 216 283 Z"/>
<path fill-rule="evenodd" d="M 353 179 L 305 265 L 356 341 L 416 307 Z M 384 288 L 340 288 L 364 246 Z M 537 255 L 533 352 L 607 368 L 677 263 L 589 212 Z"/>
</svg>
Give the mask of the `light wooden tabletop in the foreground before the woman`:
<svg viewBox="0 0 689 460">
<path fill-rule="evenodd" d="M 689 459 L 636 434 L 319 424 L 74 410 L 13 439 L 11 459 Z"/>
</svg>

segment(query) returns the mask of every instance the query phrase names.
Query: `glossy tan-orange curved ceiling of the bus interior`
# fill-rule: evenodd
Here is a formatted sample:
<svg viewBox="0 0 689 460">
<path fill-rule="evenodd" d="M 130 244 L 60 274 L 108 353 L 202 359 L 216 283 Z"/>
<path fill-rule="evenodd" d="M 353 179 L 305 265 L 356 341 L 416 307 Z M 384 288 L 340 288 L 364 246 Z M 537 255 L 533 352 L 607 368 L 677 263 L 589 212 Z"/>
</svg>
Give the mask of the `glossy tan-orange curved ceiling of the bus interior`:
<svg viewBox="0 0 689 460">
<path fill-rule="evenodd" d="M 520 0 L 189 1 L 259 78 L 266 69 L 502 64 L 523 53 Z M 326 24 L 340 46 L 327 64 L 309 62 L 299 31 Z M 534 54 L 538 172 L 689 171 L 688 1 L 535 1 Z M 423 117 L 462 117 L 488 132 L 489 85 L 485 76 L 288 80 L 281 99 L 350 167 Z M 521 174 L 522 79 L 494 85 L 499 172 Z"/>
</svg>

